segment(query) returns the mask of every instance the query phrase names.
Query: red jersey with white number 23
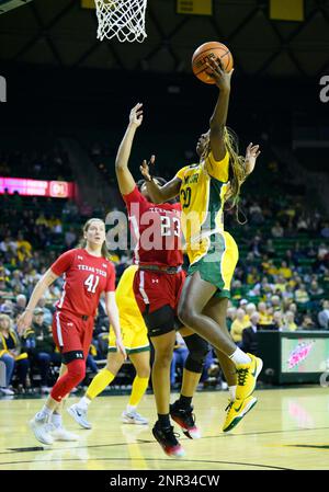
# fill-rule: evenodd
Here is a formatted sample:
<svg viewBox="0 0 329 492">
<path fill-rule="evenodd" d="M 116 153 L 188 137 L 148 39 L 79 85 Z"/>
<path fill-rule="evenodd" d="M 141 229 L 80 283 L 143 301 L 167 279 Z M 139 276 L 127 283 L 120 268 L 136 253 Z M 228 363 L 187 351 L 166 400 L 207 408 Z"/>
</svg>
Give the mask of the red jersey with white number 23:
<svg viewBox="0 0 329 492">
<path fill-rule="evenodd" d="M 137 186 L 123 196 L 131 220 L 135 263 L 178 266 L 183 263 L 181 250 L 181 205 L 152 204 Z"/>
</svg>

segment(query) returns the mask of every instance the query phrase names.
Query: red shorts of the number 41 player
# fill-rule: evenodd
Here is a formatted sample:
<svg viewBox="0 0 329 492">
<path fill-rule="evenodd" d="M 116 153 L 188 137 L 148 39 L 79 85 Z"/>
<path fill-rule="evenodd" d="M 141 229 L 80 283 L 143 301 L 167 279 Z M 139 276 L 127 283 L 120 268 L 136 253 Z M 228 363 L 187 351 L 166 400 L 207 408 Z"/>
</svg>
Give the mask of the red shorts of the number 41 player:
<svg viewBox="0 0 329 492">
<path fill-rule="evenodd" d="M 52 328 L 54 341 L 60 353 L 81 354 L 82 352 L 86 359 L 92 340 L 93 321 L 92 316 L 84 320 L 79 314 L 72 314 L 68 311 L 56 311 Z M 72 358 L 80 357 L 73 356 Z"/>
</svg>

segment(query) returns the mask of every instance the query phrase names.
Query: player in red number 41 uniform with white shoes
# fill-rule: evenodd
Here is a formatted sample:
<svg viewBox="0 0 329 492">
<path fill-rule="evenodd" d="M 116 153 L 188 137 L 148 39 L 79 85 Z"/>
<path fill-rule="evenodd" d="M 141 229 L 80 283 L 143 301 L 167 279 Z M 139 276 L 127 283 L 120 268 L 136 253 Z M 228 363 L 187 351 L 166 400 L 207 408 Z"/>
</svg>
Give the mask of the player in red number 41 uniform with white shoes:
<svg viewBox="0 0 329 492">
<path fill-rule="evenodd" d="M 115 302 L 115 268 L 107 260 L 103 220 L 88 220 L 83 227 L 81 248 L 61 254 L 36 284 L 18 322 L 20 332 L 31 325 L 39 298 L 61 275 L 65 283 L 53 319 L 53 335 L 63 355 L 63 365 L 44 408 L 30 423 L 35 437 L 43 444 L 53 444 L 54 439 L 78 439 L 61 425 L 61 402 L 84 378 L 94 314 L 102 293 L 105 293 L 106 311 L 116 334 L 117 348 L 126 355 Z"/>
</svg>

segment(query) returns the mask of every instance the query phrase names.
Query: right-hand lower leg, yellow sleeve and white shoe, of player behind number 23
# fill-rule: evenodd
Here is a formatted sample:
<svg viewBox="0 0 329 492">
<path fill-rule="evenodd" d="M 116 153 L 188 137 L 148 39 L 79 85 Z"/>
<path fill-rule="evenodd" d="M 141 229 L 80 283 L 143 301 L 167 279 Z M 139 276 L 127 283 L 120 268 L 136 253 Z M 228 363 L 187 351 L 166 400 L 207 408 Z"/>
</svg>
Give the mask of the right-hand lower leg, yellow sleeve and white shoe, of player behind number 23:
<svg viewBox="0 0 329 492">
<path fill-rule="evenodd" d="M 139 352 L 129 354 L 136 376 L 133 382 L 132 394 L 126 410 L 122 414 L 122 420 L 126 424 L 147 425 L 148 420 L 137 412 L 137 407 L 148 387 L 150 376 L 150 352 Z"/>
</svg>

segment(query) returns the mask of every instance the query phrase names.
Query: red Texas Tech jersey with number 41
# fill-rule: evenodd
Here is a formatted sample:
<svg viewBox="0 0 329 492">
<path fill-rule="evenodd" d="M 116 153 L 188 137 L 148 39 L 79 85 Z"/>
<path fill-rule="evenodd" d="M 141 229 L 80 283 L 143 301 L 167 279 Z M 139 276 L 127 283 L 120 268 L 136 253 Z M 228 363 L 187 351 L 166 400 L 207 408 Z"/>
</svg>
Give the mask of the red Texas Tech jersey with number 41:
<svg viewBox="0 0 329 492">
<path fill-rule="evenodd" d="M 115 290 L 114 265 L 103 256 L 93 256 L 83 249 L 69 250 L 52 265 L 65 283 L 56 308 L 78 316 L 94 316 L 103 291 Z"/>
</svg>

